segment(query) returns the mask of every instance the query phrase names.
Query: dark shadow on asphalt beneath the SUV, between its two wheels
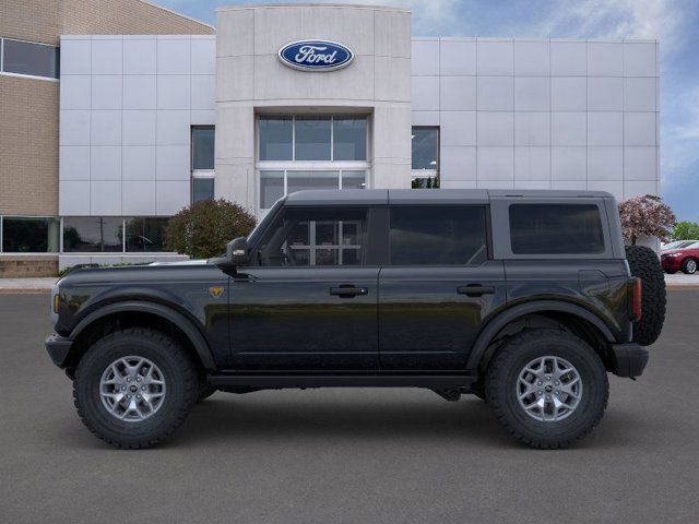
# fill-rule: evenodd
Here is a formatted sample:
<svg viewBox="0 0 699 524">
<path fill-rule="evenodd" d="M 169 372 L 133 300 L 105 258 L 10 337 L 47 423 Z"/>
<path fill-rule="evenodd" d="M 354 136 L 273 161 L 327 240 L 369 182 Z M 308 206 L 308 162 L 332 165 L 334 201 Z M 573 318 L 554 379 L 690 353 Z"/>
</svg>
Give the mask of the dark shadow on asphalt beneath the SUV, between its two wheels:
<svg viewBox="0 0 699 524">
<path fill-rule="evenodd" d="M 303 393 L 296 402 L 280 394 L 216 396 L 197 405 L 178 431 L 177 443 L 230 440 L 463 439 L 508 443 L 487 405 L 476 397 L 446 402 L 434 393 L 418 400 L 383 401 L 366 394 L 337 402 L 333 392 Z M 395 393 L 393 393 L 395 395 Z M 431 396 L 434 396 L 434 398 Z M 177 443 L 175 442 L 177 441 Z"/>
</svg>

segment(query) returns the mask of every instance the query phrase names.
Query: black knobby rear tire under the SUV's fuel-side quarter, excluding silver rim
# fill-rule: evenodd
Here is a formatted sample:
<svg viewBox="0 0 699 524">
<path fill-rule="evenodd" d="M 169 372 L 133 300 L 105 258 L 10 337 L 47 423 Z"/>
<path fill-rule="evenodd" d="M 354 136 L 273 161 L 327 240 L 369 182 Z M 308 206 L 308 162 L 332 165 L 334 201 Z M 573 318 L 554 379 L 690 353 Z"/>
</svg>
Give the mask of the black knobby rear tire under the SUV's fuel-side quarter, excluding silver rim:
<svg viewBox="0 0 699 524">
<path fill-rule="evenodd" d="M 557 356 L 580 374 L 580 404 L 567 418 L 540 421 L 517 398 L 521 370 L 535 358 Z M 516 439 L 537 449 L 562 449 L 588 436 L 600 424 L 609 396 L 609 382 L 600 356 L 585 342 L 562 330 L 526 330 L 496 353 L 486 371 L 485 393 L 493 413 Z"/>
</svg>

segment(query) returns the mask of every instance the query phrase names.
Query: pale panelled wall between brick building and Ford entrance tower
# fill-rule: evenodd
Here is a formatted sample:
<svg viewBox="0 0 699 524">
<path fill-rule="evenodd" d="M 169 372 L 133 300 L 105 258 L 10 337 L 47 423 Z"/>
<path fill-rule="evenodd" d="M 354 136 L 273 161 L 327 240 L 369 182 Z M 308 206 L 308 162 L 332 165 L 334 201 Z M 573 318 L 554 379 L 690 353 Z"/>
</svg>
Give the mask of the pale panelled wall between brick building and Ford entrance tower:
<svg viewBox="0 0 699 524">
<path fill-rule="evenodd" d="M 190 127 L 214 123 L 214 36 L 62 36 L 60 215 L 189 205 Z"/>
</svg>

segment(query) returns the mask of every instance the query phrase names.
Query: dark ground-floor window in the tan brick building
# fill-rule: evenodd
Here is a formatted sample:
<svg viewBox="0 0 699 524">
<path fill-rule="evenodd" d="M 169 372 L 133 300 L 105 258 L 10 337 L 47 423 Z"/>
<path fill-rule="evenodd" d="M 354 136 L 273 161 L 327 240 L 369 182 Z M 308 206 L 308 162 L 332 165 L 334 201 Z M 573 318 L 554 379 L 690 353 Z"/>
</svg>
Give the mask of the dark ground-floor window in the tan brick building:
<svg viewBox="0 0 699 524">
<path fill-rule="evenodd" d="M 4 253 L 56 253 L 59 241 L 58 218 L 24 216 L 0 217 L 0 251 Z"/>
</svg>

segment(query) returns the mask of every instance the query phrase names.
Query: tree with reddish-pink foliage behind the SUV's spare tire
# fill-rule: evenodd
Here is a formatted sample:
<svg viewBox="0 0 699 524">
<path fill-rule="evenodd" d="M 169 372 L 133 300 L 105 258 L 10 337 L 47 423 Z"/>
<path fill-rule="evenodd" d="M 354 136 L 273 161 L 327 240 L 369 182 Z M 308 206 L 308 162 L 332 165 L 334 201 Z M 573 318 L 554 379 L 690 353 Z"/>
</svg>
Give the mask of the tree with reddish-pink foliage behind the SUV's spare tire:
<svg viewBox="0 0 699 524">
<path fill-rule="evenodd" d="M 677 223 L 675 214 L 660 196 L 647 194 L 632 196 L 619 204 L 624 239 L 636 246 L 639 237 L 657 237 L 667 240 Z"/>
</svg>

